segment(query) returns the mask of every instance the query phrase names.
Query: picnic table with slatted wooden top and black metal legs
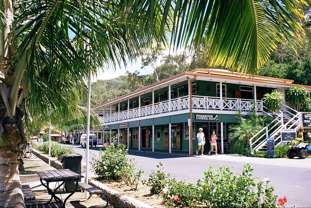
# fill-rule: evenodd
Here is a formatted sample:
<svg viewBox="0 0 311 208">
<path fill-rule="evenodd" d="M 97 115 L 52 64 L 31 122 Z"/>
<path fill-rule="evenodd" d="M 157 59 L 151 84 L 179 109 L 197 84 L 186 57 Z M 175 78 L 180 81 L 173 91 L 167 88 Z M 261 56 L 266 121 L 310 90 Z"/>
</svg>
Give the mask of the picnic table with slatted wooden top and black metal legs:
<svg viewBox="0 0 311 208">
<path fill-rule="evenodd" d="M 69 199 L 70 196 L 72 196 L 74 194 L 74 192 L 77 191 L 78 188 L 78 183 L 79 183 L 79 179 L 84 177 L 81 176 L 80 174 L 77 174 L 69 169 L 61 169 L 61 170 L 37 170 L 36 173 L 38 174 L 38 176 L 40 177 L 40 182 L 41 184 L 47 188 L 49 194 L 51 195 L 51 198 L 48 202 L 44 203 L 44 204 L 49 204 L 52 199 L 54 198 L 55 201 L 60 202 L 61 207 L 65 207 L 65 203 L 66 201 Z M 44 184 L 44 182 L 46 182 L 46 184 Z M 56 191 L 59 189 L 59 187 L 61 187 L 65 181 L 74 181 L 76 182 L 76 188 L 66 197 L 66 199 L 64 201 L 62 201 L 60 198 L 58 198 L 55 193 Z M 60 185 L 58 185 L 58 187 L 56 187 L 54 189 L 54 191 L 52 191 L 52 189 L 49 187 L 49 183 L 50 182 L 62 182 Z"/>
</svg>

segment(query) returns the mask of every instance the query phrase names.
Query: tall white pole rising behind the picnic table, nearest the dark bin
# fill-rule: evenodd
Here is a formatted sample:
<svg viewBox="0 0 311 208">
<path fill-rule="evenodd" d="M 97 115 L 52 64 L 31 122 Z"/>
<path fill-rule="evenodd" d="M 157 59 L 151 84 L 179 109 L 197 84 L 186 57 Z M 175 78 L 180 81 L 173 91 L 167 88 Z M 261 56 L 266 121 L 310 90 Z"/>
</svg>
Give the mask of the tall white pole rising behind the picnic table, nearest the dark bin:
<svg viewBox="0 0 311 208">
<path fill-rule="evenodd" d="M 91 70 L 89 72 L 89 88 L 87 92 L 87 121 L 86 121 L 86 168 L 85 168 L 85 183 L 89 184 L 89 144 L 90 144 L 90 109 L 91 109 Z M 85 192 L 87 199 L 88 192 Z"/>
</svg>

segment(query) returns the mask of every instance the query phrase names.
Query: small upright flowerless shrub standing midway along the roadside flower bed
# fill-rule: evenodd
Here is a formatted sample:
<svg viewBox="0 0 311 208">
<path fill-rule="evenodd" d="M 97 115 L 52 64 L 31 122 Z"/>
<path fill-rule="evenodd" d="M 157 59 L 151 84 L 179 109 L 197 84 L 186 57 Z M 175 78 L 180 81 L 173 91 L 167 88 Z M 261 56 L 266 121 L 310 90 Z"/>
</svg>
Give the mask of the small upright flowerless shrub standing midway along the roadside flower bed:
<svg viewBox="0 0 311 208">
<path fill-rule="evenodd" d="M 159 170 L 154 172 L 154 170 L 151 171 L 151 174 L 149 175 L 148 182 L 144 181 L 143 183 L 147 186 L 150 186 L 150 192 L 151 194 L 158 194 L 163 191 L 163 189 L 166 186 L 167 180 L 169 178 L 169 173 L 165 174 L 161 171 L 163 164 L 160 162 L 159 165 L 156 165 Z"/>
</svg>

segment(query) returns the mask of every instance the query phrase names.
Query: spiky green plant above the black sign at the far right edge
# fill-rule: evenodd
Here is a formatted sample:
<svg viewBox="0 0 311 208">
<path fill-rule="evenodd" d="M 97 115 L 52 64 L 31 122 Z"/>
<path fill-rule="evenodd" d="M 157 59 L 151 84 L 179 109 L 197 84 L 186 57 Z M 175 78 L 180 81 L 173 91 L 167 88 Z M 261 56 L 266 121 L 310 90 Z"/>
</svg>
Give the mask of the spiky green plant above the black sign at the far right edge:
<svg viewBox="0 0 311 208">
<path fill-rule="evenodd" d="M 286 92 L 286 98 L 291 107 L 296 111 L 301 111 L 310 106 L 311 100 L 308 98 L 308 91 L 302 86 L 293 86 Z M 310 111 L 310 109 L 305 109 Z"/>
</svg>

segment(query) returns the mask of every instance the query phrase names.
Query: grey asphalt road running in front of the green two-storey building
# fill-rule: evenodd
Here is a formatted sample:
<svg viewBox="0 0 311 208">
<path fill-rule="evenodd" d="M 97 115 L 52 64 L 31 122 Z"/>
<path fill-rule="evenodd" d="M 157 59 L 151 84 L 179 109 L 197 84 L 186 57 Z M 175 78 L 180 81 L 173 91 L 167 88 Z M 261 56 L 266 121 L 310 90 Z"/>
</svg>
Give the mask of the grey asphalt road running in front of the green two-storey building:
<svg viewBox="0 0 311 208">
<path fill-rule="evenodd" d="M 83 155 L 82 161 L 85 162 L 86 147 L 74 146 L 75 151 Z M 99 149 L 90 147 L 91 153 L 98 155 Z M 287 197 L 286 207 L 311 207 L 311 157 L 306 159 L 267 159 L 267 158 L 246 158 L 234 157 L 228 155 L 187 157 L 171 154 L 157 154 L 147 152 L 129 151 L 129 158 L 135 158 L 136 168 L 143 169 L 143 179 L 148 179 L 151 170 L 158 170 L 156 165 L 163 163 L 165 173 L 170 173 L 170 177 L 178 180 L 196 183 L 198 179 L 203 178 L 204 171 L 207 171 L 209 165 L 213 169 L 217 165 L 233 167 L 234 173 L 241 173 L 243 165 L 250 163 L 253 166 L 253 175 L 259 177 L 259 180 L 269 178 L 270 184 L 275 188 L 273 194 L 278 198 L 285 195 Z M 92 167 L 90 167 L 92 169 Z"/>
</svg>

